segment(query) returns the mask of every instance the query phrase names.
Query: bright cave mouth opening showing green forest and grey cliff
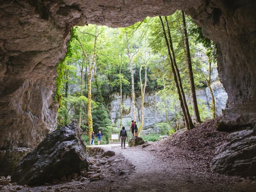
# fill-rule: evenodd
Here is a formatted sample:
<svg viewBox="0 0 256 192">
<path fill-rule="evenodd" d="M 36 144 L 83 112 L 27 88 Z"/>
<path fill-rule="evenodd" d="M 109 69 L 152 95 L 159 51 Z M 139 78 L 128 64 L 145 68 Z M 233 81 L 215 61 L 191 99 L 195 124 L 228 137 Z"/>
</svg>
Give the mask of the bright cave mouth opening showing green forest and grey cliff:
<svg viewBox="0 0 256 192">
<path fill-rule="evenodd" d="M 223 103 L 218 106 L 217 112 L 214 112 L 216 116 L 222 115 L 227 95 L 218 78 L 215 43 L 202 35 L 202 28 L 191 17 L 184 16 L 195 77 L 194 84 L 197 87 L 198 107 L 201 119 L 205 121 L 212 118 L 212 98 L 208 86 L 214 85 L 214 91 L 220 87 L 224 94 L 224 98 L 218 98 L 222 99 Z M 185 84 L 191 118 L 196 122 L 189 88 L 182 11 L 177 10 L 172 15 L 161 18 L 166 19 L 170 25 L 172 57 L 176 60 L 182 84 Z M 166 21 L 164 27 L 167 32 Z M 210 48 L 208 44 L 204 47 L 199 38 L 204 38 L 208 44 L 212 44 Z M 168 42 L 170 43 L 170 39 Z M 211 53 L 212 58 L 206 56 L 207 52 Z M 209 59 L 212 62 L 211 66 Z M 214 73 L 214 78 L 210 78 L 208 85 L 206 79 L 209 79 L 209 67 L 212 74 Z M 143 138 L 148 141 L 159 140 L 185 126 L 159 16 L 147 17 L 125 28 L 94 24 L 73 27 L 68 51 L 64 60 L 58 64 L 57 72 L 57 93 L 60 94 L 57 97 L 62 98 L 58 109 L 58 127 L 73 120 L 77 121 L 83 130 L 82 136 L 87 145 L 90 145 L 92 131 L 96 135 L 100 130 L 103 134 L 101 143 L 108 144 L 111 134 L 118 134 L 122 126 L 129 130 L 131 120 L 137 120 L 138 127 L 142 124 Z M 132 106 L 133 89 L 135 115 Z M 143 105 L 142 94 L 143 98 L 146 97 Z M 92 108 L 90 112 L 89 99 Z M 160 112 L 156 112 L 155 119 L 152 120 L 149 117 L 154 114 L 147 110 Z M 144 111 L 145 120 L 144 117 L 142 120 Z M 91 128 L 88 123 L 90 115 Z M 132 137 L 130 131 L 128 136 Z M 96 140 L 94 142 L 97 143 Z"/>
</svg>

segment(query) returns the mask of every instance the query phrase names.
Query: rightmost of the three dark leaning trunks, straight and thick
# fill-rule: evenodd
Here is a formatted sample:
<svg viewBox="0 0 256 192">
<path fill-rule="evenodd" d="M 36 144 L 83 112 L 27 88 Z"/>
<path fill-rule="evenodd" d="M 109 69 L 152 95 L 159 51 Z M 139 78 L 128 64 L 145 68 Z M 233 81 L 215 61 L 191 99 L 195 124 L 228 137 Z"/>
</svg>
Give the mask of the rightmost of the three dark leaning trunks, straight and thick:
<svg viewBox="0 0 256 192">
<path fill-rule="evenodd" d="M 197 104 L 197 100 L 196 100 L 196 88 L 195 88 L 195 84 L 194 84 L 194 75 L 193 75 L 192 62 L 191 62 L 191 56 L 190 56 L 186 19 L 185 19 L 184 11 L 181 11 L 181 13 L 182 13 L 184 43 L 185 43 L 185 50 L 186 50 L 186 55 L 187 55 L 188 74 L 189 74 L 189 82 L 190 82 L 190 89 L 191 89 L 191 94 L 192 94 L 194 114 L 196 116 L 196 122 L 201 123 L 200 114 L 199 114 L 199 110 L 198 110 L 198 104 Z"/>
</svg>

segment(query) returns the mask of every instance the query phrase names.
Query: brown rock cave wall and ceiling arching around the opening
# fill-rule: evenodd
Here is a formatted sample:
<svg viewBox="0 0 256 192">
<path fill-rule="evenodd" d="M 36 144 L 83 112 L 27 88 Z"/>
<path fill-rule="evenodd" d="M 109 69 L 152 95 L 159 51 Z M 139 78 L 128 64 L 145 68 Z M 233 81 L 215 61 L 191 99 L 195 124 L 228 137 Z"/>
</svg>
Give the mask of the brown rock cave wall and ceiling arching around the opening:
<svg viewBox="0 0 256 192">
<path fill-rule="evenodd" d="M 218 70 L 228 94 L 222 128 L 256 122 L 254 0 L 4 0 L 0 149 L 34 148 L 56 127 L 56 64 L 64 57 L 72 26 L 124 27 L 176 9 L 191 15 L 218 44 Z"/>
</svg>

